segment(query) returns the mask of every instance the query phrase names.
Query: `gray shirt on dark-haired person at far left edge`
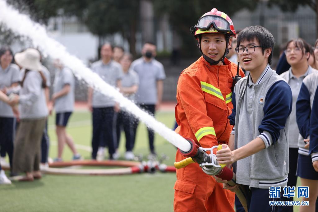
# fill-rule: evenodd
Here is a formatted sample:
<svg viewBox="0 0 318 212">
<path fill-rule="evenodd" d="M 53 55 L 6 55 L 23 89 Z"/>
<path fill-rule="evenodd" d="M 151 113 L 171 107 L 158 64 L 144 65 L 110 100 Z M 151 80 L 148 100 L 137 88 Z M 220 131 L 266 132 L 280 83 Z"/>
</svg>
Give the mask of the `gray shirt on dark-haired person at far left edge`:
<svg viewBox="0 0 318 212">
<path fill-rule="evenodd" d="M 2 69 L 0 65 L 0 89 L 10 87 L 12 83 L 19 82 L 19 67 L 15 64 L 10 64 L 6 69 Z M 13 118 L 11 107 L 0 101 L 0 117 Z"/>
</svg>

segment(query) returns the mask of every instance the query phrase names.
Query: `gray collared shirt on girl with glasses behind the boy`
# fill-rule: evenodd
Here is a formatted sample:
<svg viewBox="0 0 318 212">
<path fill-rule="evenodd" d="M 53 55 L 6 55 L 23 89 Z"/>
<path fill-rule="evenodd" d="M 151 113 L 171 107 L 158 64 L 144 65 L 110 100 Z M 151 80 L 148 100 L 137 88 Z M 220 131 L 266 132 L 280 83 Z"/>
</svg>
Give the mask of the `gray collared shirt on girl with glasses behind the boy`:
<svg viewBox="0 0 318 212">
<path fill-rule="evenodd" d="M 293 107 L 292 112 L 290 113 L 290 120 L 289 120 L 289 148 L 298 148 L 298 137 L 299 129 L 296 122 L 296 101 L 298 98 L 298 94 L 301 88 L 302 81 L 307 77 L 308 74 L 317 71 L 313 69 L 310 65 L 305 74 L 301 75 L 298 79 L 294 76 L 292 72 L 292 68 L 290 67 L 288 71 L 280 74 L 280 77 L 284 78 L 286 82 L 289 84 L 290 88 L 292 89 L 293 93 Z M 302 139 L 302 143 L 303 139 Z"/>
</svg>

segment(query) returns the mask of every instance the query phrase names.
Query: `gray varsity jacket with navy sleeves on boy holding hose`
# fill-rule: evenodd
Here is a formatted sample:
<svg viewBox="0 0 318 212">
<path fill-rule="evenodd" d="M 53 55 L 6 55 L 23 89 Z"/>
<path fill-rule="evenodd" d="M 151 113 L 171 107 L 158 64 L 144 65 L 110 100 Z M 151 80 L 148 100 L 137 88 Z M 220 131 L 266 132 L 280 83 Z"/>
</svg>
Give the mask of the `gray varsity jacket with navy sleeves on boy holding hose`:
<svg viewBox="0 0 318 212">
<path fill-rule="evenodd" d="M 235 149 L 256 137 L 264 141 L 265 149 L 233 164 L 236 181 L 254 188 L 286 186 L 292 110 L 290 86 L 269 65 L 255 84 L 251 82 L 249 74 L 239 80 L 232 93 L 233 110 L 229 119 L 235 126 Z"/>
</svg>

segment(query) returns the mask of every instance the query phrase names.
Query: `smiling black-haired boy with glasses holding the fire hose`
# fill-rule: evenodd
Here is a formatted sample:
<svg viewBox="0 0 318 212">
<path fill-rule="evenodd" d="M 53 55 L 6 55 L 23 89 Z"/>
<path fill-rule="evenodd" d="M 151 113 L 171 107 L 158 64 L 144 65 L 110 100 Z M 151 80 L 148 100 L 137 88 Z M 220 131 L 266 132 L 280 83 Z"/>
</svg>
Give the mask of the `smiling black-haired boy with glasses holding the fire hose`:
<svg viewBox="0 0 318 212">
<path fill-rule="evenodd" d="M 273 35 L 262 26 L 250 26 L 239 33 L 236 52 L 249 71 L 232 93 L 234 125 L 230 140 L 234 149 L 222 144 L 217 151 L 220 164 L 233 164 L 236 183 L 225 189 L 246 193 L 248 211 L 277 211 L 269 205 L 270 187 L 285 187 L 288 178 L 288 128 L 292 92 L 287 82 L 270 68 Z"/>
</svg>

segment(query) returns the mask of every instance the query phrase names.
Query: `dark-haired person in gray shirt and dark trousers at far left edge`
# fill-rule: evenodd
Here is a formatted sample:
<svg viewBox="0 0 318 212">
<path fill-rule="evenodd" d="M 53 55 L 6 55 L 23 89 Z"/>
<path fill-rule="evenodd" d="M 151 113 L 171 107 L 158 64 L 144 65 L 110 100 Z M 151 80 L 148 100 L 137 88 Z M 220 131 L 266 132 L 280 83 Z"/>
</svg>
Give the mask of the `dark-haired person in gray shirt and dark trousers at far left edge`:
<svg viewBox="0 0 318 212">
<path fill-rule="evenodd" d="M 9 95 L 12 88 L 18 86 L 19 67 L 12 64 L 13 54 L 9 47 L 0 49 L 0 90 Z M 16 119 L 8 104 L 0 101 L 0 151 L 1 163 L 4 165 L 5 155 L 8 153 L 10 169 L 12 171 L 13 140 L 15 135 Z"/>
</svg>

